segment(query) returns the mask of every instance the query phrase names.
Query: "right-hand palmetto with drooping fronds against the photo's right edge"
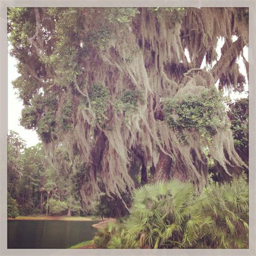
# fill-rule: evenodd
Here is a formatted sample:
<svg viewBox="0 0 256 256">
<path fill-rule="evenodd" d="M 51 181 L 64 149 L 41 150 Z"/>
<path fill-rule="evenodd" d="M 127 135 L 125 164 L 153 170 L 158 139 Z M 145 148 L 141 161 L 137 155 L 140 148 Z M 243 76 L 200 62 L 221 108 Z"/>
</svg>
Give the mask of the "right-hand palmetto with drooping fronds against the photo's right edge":
<svg viewBox="0 0 256 256">
<path fill-rule="evenodd" d="M 248 248 L 248 183 L 244 176 L 231 183 L 212 184 L 204 191 L 201 227 L 205 244 L 213 248 Z"/>
</svg>

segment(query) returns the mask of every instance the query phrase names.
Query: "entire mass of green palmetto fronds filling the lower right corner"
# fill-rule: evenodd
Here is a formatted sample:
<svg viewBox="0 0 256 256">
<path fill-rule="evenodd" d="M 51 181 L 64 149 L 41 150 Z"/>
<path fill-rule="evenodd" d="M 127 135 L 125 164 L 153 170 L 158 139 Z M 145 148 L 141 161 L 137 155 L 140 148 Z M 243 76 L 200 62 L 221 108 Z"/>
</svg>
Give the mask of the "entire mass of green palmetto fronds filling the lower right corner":
<svg viewBox="0 0 256 256">
<path fill-rule="evenodd" d="M 199 196 L 171 180 L 133 193 L 124 236 L 150 248 L 248 247 L 248 185 L 244 177 L 213 184 Z"/>
</svg>

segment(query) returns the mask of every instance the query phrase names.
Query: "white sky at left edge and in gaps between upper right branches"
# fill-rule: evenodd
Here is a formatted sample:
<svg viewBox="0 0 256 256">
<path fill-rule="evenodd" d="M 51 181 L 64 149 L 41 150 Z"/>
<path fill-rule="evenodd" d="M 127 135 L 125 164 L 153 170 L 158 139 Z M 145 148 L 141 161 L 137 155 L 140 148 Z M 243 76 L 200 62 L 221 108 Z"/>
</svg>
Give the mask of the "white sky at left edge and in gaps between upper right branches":
<svg viewBox="0 0 256 256">
<path fill-rule="evenodd" d="M 233 40 L 236 38 L 234 37 Z M 220 49 L 223 45 L 224 41 L 219 39 L 218 46 L 217 46 L 217 53 L 218 53 L 218 59 L 220 58 Z M 185 52 L 186 56 L 188 57 L 188 54 Z M 244 56 L 246 60 L 248 61 L 248 48 L 245 46 L 244 48 Z M 188 57 L 189 58 L 189 57 Z M 26 130 L 23 126 L 19 125 L 19 118 L 21 117 L 21 111 L 23 109 L 22 100 L 18 99 L 17 91 L 12 86 L 12 81 L 15 80 L 19 73 L 16 69 L 16 59 L 14 57 L 11 57 L 8 52 L 8 130 L 14 130 L 19 134 L 19 136 L 25 140 L 27 146 L 34 146 L 37 143 L 40 142 L 38 139 L 36 131 L 33 130 Z M 215 63 L 213 63 L 214 65 Z M 240 67 L 240 72 L 242 75 L 246 77 L 246 70 L 245 65 L 242 62 L 242 58 L 238 59 L 238 64 Z M 204 68 L 205 66 L 205 59 L 203 60 L 203 63 L 201 65 L 201 68 Z M 218 83 L 218 82 L 217 82 Z M 245 91 L 248 91 L 248 81 L 246 77 L 246 86 Z M 226 95 L 228 95 L 228 92 L 225 92 Z M 246 93 L 243 92 L 241 94 L 232 92 L 230 94 L 231 99 L 237 99 L 246 97 Z"/>
</svg>

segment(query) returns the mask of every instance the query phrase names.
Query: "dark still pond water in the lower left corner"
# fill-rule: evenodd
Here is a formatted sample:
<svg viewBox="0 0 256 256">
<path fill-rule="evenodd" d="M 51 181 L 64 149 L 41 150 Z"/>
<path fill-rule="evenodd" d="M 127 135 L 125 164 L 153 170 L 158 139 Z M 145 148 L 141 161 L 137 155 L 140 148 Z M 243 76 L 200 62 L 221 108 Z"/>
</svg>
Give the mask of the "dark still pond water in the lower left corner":
<svg viewBox="0 0 256 256">
<path fill-rule="evenodd" d="M 8 248 L 69 248 L 91 240 L 97 222 L 8 220 Z"/>
</svg>

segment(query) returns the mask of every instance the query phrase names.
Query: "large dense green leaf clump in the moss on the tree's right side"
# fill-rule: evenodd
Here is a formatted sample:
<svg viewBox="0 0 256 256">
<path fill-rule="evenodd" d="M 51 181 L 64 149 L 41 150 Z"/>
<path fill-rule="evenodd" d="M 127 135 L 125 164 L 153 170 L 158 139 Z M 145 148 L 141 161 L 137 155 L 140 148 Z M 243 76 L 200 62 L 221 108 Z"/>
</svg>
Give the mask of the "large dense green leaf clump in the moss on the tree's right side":
<svg viewBox="0 0 256 256">
<path fill-rule="evenodd" d="M 197 129 L 201 137 L 210 142 L 211 136 L 228 125 L 223 99 L 215 86 L 203 90 L 200 95 L 187 94 L 164 99 L 165 120 L 177 131 Z"/>
</svg>

